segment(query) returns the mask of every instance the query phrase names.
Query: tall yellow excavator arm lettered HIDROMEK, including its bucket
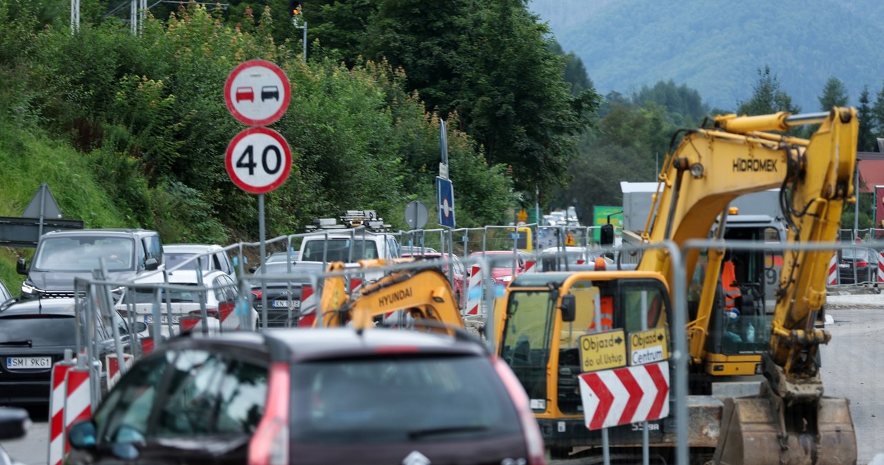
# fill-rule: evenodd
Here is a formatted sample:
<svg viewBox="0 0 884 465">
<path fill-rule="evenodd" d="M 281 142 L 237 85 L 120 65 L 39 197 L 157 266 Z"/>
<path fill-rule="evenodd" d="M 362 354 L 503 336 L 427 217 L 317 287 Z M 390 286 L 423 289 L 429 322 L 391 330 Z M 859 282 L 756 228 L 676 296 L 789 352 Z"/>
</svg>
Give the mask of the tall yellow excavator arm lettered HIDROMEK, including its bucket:
<svg viewBox="0 0 884 465">
<path fill-rule="evenodd" d="M 800 124 L 819 128 L 811 139 L 767 132 Z M 737 196 L 779 187 L 789 222 L 788 243 L 834 242 L 844 204 L 855 201 L 857 132 L 857 112 L 846 108 L 796 116 L 718 116 L 713 129 L 688 131 L 659 175 L 644 241 L 682 245 L 705 239 L 716 218 L 724 224 L 728 204 Z M 768 383 L 758 399 L 726 402 L 715 462 L 810 463 L 811 456 L 815 463 L 856 460 L 847 401 L 822 397 L 814 362 L 819 344 L 831 337 L 814 327 L 825 299 L 831 253 L 784 253 L 770 347 L 762 356 Z M 689 281 L 698 254 L 697 249 L 686 254 Z M 721 257 L 722 250 L 711 250 L 708 269 L 720 269 Z M 663 250 L 645 253 L 638 268 L 673 279 Z M 694 362 L 704 356 L 717 279 L 714 273 L 706 275 L 697 318 L 689 323 Z"/>
</svg>

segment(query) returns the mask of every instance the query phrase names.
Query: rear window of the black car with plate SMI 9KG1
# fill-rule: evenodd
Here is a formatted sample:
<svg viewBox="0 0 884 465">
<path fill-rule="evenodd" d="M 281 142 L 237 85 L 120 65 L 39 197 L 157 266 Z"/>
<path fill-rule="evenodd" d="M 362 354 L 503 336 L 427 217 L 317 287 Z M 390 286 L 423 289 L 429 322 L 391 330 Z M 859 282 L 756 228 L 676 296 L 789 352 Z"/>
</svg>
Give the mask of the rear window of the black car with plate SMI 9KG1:
<svg viewBox="0 0 884 465">
<path fill-rule="evenodd" d="M 0 316 L 0 344 L 22 341 L 32 347 L 76 346 L 73 315 Z"/>
</svg>

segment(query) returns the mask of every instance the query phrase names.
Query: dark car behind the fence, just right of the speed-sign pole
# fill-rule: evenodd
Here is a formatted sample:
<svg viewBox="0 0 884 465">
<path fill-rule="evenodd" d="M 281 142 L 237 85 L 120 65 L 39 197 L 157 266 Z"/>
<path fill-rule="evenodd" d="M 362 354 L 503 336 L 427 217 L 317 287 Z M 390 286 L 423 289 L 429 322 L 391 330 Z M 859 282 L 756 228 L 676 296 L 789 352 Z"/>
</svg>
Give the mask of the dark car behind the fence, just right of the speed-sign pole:
<svg viewBox="0 0 884 465">
<path fill-rule="evenodd" d="M 297 326 L 298 317 L 301 314 L 301 302 L 308 297 L 308 293 L 313 292 L 309 274 L 321 273 L 324 269 L 324 264 L 321 261 L 293 261 L 291 264 L 281 261 L 265 263 L 255 270 L 255 277 L 261 276 L 261 274 L 276 276 L 291 274 L 293 276 L 290 279 L 268 280 L 263 289 L 261 281 L 252 281 L 252 294 L 255 296 L 252 305 L 258 312 L 258 319 L 263 318 L 263 307 L 261 306 L 263 292 L 267 296 L 267 326 Z M 290 309 L 291 321 L 289 320 Z"/>
</svg>

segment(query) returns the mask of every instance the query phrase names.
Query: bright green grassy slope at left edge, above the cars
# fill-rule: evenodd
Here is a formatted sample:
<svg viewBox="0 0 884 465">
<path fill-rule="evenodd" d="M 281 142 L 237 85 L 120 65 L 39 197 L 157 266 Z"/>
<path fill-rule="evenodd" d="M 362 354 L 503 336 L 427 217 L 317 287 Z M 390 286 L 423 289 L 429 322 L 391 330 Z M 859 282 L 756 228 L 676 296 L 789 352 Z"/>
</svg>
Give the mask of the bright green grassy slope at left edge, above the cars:
<svg viewBox="0 0 884 465">
<path fill-rule="evenodd" d="M 95 179 L 88 156 L 38 130 L 24 130 L 0 121 L 0 216 L 21 216 L 41 183 L 50 187 L 65 218 L 83 220 L 87 228 L 133 226 L 125 223 L 113 199 Z M 0 280 L 13 295 L 23 276 L 15 260 L 34 249 L 0 247 Z"/>
</svg>

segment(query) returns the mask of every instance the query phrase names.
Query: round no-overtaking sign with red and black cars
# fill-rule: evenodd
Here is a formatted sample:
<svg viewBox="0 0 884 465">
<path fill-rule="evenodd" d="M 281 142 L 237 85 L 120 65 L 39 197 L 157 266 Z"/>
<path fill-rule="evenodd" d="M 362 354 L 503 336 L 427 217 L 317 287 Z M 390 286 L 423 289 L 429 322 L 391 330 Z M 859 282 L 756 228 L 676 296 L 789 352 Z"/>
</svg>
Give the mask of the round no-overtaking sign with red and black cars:
<svg viewBox="0 0 884 465">
<path fill-rule="evenodd" d="M 242 124 L 266 126 L 277 121 L 292 98 L 286 73 L 266 60 L 248 60 L 230 71 L 224 100 L 231 115 Z"/>
</svg>

